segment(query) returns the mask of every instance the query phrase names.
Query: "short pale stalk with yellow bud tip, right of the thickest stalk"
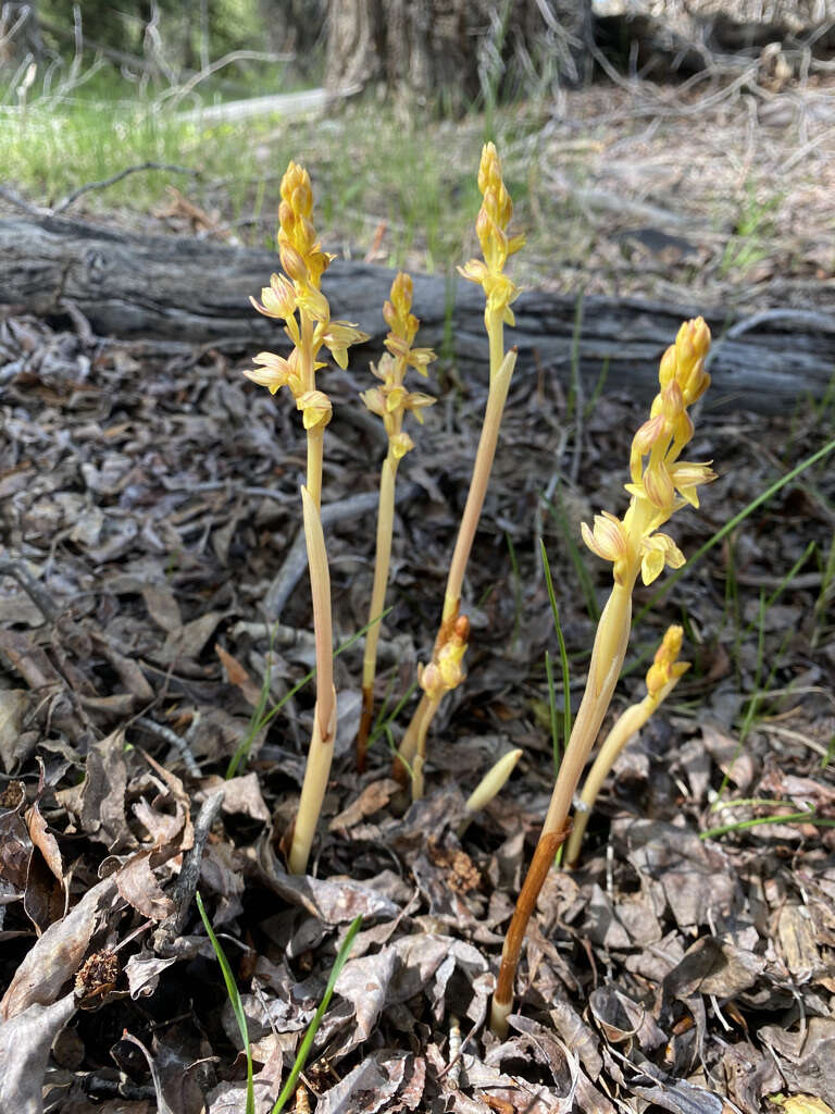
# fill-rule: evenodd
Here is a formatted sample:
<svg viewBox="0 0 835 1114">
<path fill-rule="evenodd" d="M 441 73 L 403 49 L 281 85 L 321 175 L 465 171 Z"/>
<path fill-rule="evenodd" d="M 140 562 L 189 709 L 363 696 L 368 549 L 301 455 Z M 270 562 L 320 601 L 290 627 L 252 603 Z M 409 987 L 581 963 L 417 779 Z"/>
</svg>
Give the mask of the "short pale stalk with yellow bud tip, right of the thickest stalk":
<svg viewBox="0 0 835 1114">
<path fill-rule="evenodd" d="M 615 765 L 618 755 L 626 744 L 646 724 L 658 706 L 669 696 L 679 680 L 689 670 L 689 662 L 677 661 L 681 649 L 680 626 L 671 626 L 664 636 L 656 652 L 655 661 L 647 673 L 647 695 L 637 704 L 622 712 L 613 727 L 606 736 L 591 770 L 589 770 L 580 793 L 581 808 L 574 812 L 573 830 L 566 844 L 566 867 L 573 867 L 580 857 L 580 846 L 589 822 L 589 815 L 597 801 L 600 788 L 609 771 Z"/>
</svg>

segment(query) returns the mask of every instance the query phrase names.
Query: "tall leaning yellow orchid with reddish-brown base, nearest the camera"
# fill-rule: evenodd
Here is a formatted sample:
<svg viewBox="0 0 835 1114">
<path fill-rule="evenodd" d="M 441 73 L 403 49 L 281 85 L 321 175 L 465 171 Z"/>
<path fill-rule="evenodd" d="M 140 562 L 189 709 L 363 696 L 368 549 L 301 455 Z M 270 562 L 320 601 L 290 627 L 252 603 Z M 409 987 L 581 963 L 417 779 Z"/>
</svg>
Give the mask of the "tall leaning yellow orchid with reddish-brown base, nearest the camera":
<svg viewBox="0 0 835 1114">
<path fill-rule="evenodd" d="M 672 538 L 657 532 L 658 527 L 685 502 L 698 506 L 698 486 L 715 478 L 707 465 L 678 459 L 694 433 L 687 407 L 704 394 L 710 382 L 705 371 L 709 342 L 710 333 L 700 317 L 681 326 L 676 343 L 661 360 L 658 377 L 661 389 L 654 400 L 650 418 L 632 440 L 631 482 L 627 485 L 631 496 L 629 509 L 622 521 L 603 512 L 596 516 L 593 531 L 584 524 L 582 527 L 583 540 L 592 553 L 612 563 L 615 584 L 600 616 L 586 691 L 560 763 L 540 840 L 504 938 L 491 1008 L 491 1027 L 499 1036 L 508 1032 L 513 980 L 528 922 L 554 852 L 570 833 L 572 798 L 623 664 L 631 627 L 632 588 L 639 574 L 645 584 L 650 584 L 665 565 L 674 568 L 684 565 L 685 557 Z"/>
</svg>

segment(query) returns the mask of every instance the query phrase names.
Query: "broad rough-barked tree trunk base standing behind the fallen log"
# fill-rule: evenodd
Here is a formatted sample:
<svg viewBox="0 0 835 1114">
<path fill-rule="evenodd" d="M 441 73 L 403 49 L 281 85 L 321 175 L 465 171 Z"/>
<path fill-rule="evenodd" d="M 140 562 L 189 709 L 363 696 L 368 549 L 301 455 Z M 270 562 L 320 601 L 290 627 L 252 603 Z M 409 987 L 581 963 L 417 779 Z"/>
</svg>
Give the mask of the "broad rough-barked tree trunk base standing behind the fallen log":
<svg viewBox="0 0 835 1114">
<path fill-rule="evenodd" d="M 591 0 L 331 0 L 326 89 L 453 113 L 586 76 Z"/>
</svg>

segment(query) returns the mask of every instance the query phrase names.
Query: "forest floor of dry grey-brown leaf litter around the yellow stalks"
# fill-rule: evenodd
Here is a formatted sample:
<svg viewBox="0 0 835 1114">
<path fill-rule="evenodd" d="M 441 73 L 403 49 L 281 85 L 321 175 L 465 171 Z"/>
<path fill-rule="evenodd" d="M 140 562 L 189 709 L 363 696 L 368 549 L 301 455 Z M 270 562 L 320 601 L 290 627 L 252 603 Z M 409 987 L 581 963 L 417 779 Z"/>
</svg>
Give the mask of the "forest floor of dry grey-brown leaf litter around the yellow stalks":
<svg viewBox="0 0 835 1114">
<path fill-rule="evenodd" d="M 665 125 L 658 114 L 646 124 L 649 143 Z M 692 138 L 699 150 L 710 134 Z M 670 167 L 681 158 L 670 152 Z M 743 172 L 745 156 L 745 190 Z M 711 173 L 706 162 L 692 180 Z M 796 201 L 808 226 L 793 226 L 804 250 L 790 266 L 768 240 L 765 258 L 747 260 L 739 304 L 823 301 L 835 229 L 815 208 L 821 196 Z M 756 227 L 713 247 L 688 228 L 681 238 L 713 253 L 703 271 L 688 263 L 692 282 L 680 245 L 651 252 L 650 266 L 613 236 L 607 270 L 587 238 L 587 289 L 610 292 L 622 266 L 617 290 L 721 297 L 739 280 L 734 253 L 760 243 Z M 734 261 L 725 274 L 723 257 Z M 698 287 L 710 261 L 718 285 Z M 544 278 L 544 262 L 529 266 Z M 285 563 L 304 446 L 292 407 L 249 384 L 244 367 L 214 351 L 165 358 L 81 323 L 0 320 L 3 1103 L 38 1110 L 42 1093 L 60 1114 L 245 1108 L 237 1023 L 194 901 L 198 868 L 243 996 L 258 1111 L 272 1110 L 356 916 L 298 1111 L 835 1110 L 832 458 L 783 486 L 636 622 L 603 730 L 642 696 L 669 623 L 682 624 L 694 665 L 618 761 L 579 867 L 549 876 L 511 1036 L 499 1042 L 485 1025 L 493 976 L 553 780 L 544 654 L 558 648 L 538 539 L 576 707 L 610 584 L 583 550 L 581 590 L 579 522 L 622 514 L 650 399 L 605 391 L 578 422 L 548 369 L 536 390 L 530 379 L 511 388 L 468 573 L 468 677 L 433 724 L 428 794 L 400 801 L 384 733 L 367 772 L 354 771 L 362 648 L 350 646 L 337 658 L 320 838 L 299 878 L 286 873 L 281 841 L 313 703 L 310 685 L 288 697 L 313 664 L 306 573 Z M 335 413 L 323 505 L 338 507 L 374 491 L 381 446 L 347 417 L 366 369 L 323 375 Z M 484 383 L 452 374 L 434 387 L 441 401 L 402 466 L 381 649 L 390 707 L 431 649 L 485 398 Z M 706 405 L 688 456 L 713 460 L 719 478 L 699 510 L 676 516 L 684 553 L 821 449 L 833 424 L 832 400 L 800 391 L 774 418 Z M 366 622 L 373 539 L 373 510 L 327 529 L 340 644 Z M 638 589 L 636 613 L 651 595 Z M 267 711 L 282 707 L 258 727 L 265 676 Z M 247 739 L 248 762 L 225 780 Z M 510 783 L 459 834 L 466 795 L 517 746 Z"/>
</svg>

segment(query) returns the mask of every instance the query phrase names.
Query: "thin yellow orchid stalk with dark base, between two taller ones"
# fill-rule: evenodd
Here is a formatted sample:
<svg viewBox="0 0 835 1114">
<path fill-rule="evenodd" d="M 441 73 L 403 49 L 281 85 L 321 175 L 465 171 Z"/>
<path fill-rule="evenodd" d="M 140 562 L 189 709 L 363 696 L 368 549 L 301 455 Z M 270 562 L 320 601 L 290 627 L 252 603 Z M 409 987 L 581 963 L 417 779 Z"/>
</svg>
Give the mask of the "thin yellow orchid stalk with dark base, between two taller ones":
<svg viewBox="0 0 835 1114">
<path fill-rule="evenodd" d="M 411 410 L 418 421 L 422 422 L 422 410 L 435 400 L 430 394 L 420 391 L 409 392 L 403 387 L 407 367 L 415 368 L 422 375 L 426 367 L 435 359 L 431 349 L 412 348 L 420 322 L 411 312 L 412 280 L 400 272 L 391 289 L 391 300 L 383 306 L 383 316 L 390 325 L 385 339 L 387 352 L 377 368 L 372 368 L 374 374 L 383 380 L 382 387 L 375 387 L 363 392 L 362 400 L 372 413 L 383 419 L 389 436 L 389 451 L 380 471 L 380 509 L 377 512 L 376 557 L 374 561 L 374 584 L 369 607 L 369 634 L 365 639 L 363 655 L 363 693 L 360 729 L 356 735 L 356 768 L 365 769 L 365 758 L 369 746 L 369 735 L 374 722 L 374 678 L 377 668 L 377 644 L 380 642 L 380 623 L 375 619 L 385 606 L 385 589 L 389 584 L 389 566 L 392 555 L 392 531 L 394 527 L 394 488 L 397 478 L 397 465 L 414 448 L 414 442 L 403 432 L 403 418 Z"/>
</svg>

